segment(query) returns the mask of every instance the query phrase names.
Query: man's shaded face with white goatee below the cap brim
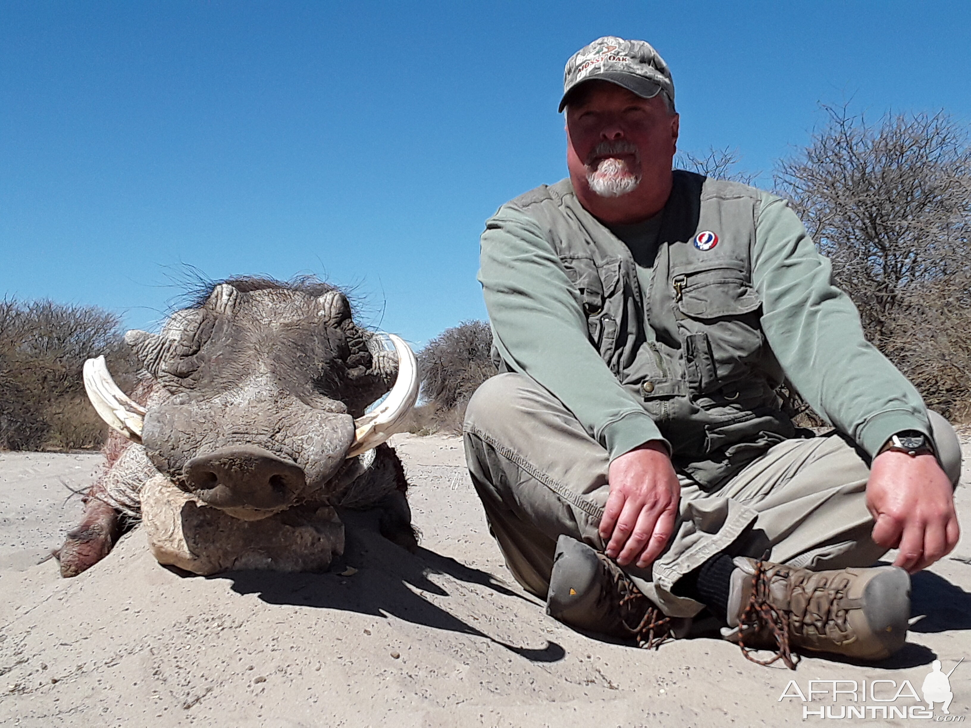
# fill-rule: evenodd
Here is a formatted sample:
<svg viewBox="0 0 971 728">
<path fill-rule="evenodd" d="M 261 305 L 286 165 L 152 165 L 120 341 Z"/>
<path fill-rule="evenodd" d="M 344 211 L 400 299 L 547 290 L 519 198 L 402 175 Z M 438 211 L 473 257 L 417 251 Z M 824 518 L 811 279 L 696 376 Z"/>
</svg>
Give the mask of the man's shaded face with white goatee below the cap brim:
<svg viewBox="0 0 971 728">
<path fill-rule="evenodd" d="M 566 133 L 570 177 L 593 195 L 623 197 L 642 183 L 669 184 L 678 116 L 659 93 L 643 99 L 615 83 L 586 83 L 566 108 Z"/>
</svg>

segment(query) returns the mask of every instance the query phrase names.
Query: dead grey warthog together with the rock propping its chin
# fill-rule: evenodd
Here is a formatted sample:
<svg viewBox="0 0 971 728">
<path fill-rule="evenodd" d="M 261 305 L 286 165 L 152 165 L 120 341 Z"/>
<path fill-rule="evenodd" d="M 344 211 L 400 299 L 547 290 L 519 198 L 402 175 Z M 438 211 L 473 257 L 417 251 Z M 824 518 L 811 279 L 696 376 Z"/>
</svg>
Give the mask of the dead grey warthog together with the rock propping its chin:
<svg viewBox="0 0 971 728">
<path fill-rule="evenodd" d="M 61 575 L 104 558 L 138 519 L 159 562 L 196 574 L 324 570 L 343 552 L 342 507 L 377 510 L 382 533 L 414 548 L 408 484 L 384 442 L 415 404 L 418 370 L 389 339 L 394 351 L 326 283 L 238 278 L 161 334 L 125 334 L 148 373 L 141 403 L 104 357 L 88 360 L 88 397 L 127 440 L 113 434 L 106 448 Z"/>
</svg>

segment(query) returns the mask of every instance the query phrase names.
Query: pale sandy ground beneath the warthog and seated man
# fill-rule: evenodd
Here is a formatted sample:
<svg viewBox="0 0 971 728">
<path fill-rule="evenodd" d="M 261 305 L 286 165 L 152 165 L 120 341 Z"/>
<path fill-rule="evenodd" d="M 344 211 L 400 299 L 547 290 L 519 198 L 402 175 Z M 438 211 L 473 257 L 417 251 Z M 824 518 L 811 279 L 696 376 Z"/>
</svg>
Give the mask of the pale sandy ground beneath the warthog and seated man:
<svg viewBox="0 0 971 728">
<path fill-rule="evenodd" d="M 37 562 L 76 521 L 68 488 L 88 484 L 100 457 L 0 454 L 0 724 L 777 726 L 805 722 L 798 700 L 778 701 L 790 678 L 803 691 L 810 679 L 874 678 L 920 691 L 931 660 L 947 672 L 961 657 L 951 711 L 971 708 L 971 537 L 914 579 L 925 616 L 887 665 L 813 658 L 791 673 L 711 639 L 639 650 L 572 632 L 519 589 L 457 438 L 396 440 L 422 549 L 358 524 L 326 575 L 184 578 L 154 562 L 136 529 L 88 572 L 60 579 L 52 559 Z M 971 513 L 966 487 L 958 504 Z M 357 572 L 340 576 L 347 566 Z M 809 707 L 825 705 L 839 714 L 854 703 L 830 694 Z"/>
</svg>

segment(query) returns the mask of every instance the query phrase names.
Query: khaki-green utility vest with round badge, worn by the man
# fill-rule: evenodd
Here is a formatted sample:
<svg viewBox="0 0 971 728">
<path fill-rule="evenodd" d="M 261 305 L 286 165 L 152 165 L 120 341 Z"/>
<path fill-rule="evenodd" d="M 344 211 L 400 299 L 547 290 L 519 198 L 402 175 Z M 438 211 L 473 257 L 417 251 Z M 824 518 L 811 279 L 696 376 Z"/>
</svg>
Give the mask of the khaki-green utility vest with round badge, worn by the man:
<svg viewBox="0 0 971 728">
<path fill-rule="evenodd" d="M 671 443 L 675 467 L 705 490 L 795 436 L 752 281 L 758 204 L 744 184 L 675 171 L 642 290 L 630 249 L 586 212 L 569 180 L 509 203 L 544 229 L 591 345 Z"/>
</svg>

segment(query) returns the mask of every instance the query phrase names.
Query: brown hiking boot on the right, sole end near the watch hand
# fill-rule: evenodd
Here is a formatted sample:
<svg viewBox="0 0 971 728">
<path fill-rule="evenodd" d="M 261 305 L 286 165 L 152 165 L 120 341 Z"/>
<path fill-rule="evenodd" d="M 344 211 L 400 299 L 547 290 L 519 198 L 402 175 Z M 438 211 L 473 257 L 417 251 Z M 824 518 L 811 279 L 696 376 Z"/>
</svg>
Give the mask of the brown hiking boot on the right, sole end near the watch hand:
<svg viewBox="0 0 971 728">
<path fill-rule="evenodd" d="M 882 660 L 904 645 L 910 576 L 895 566 L 811 572 L 738 557 L 731 576 L 725 639 L 767 665 L 794 669 L 791 648 Z M 776 649 L 756 660 L 751 648 Z"/>
</svg>

